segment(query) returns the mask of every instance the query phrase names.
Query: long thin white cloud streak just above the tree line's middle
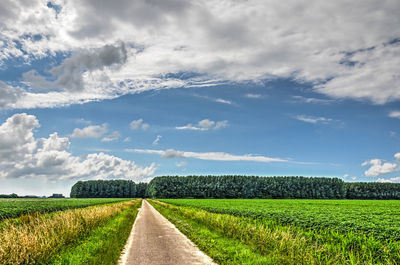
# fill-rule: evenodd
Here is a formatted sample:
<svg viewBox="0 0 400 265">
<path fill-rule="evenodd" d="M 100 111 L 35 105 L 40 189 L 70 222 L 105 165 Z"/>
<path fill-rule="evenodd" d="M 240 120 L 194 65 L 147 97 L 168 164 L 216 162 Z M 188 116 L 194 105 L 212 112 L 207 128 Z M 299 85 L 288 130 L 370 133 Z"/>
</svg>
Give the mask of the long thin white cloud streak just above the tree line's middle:
<svg viewBox="0 0 400 265">
<path fill-rule="evenodd" d="M 223 152 L 206 152 L 206 153 L 197 153 L 197 152 L 185 152 L 185 151 L 176 151 L 174 149 L 168 150 L 152 150 L 152 149 L 126 149 L 126 152 L 133 153 L 142 153 L 142 154 L 156 154 L 160 155 L 162 158 L 196 158 L 201 160 L 214 160 L 214 161 L 253 161 L 253 162 L 262 162 L 262 163 L 270 163 L 270 162 L 289 162 L 288 160 L 281 158 L 272 158 L 266 156 L 259 155 L 232 155 Z"/>
</svg>

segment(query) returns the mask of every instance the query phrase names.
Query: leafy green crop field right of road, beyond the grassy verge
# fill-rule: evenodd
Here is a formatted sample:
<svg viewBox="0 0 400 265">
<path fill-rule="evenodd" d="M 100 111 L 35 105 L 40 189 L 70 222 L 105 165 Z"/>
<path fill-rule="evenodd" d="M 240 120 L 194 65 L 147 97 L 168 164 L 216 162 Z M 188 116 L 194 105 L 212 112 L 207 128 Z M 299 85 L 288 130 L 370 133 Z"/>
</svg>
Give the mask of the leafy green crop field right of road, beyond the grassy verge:
<svg viewBox="0 0 400 265">
<path fill-rule="evenodd" d="M 161 200 L 209 212 L 274 220 L 284 225 L 363 232 L 400 240 L 400 201 L 371 200 Z"/>
</svg>

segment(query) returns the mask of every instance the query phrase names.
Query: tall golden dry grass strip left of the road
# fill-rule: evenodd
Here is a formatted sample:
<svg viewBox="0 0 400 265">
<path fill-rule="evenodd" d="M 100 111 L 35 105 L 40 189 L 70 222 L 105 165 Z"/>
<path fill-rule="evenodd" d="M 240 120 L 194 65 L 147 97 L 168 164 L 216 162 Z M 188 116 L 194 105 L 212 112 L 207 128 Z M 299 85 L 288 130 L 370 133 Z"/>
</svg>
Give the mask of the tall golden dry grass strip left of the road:
<svg viewBox="0 0 400 265">
<path fill-rule="evenodd" d="M 0 228 L 0 264 L 44 263 L 63 245 L 86 235 L 128 209 L 132 203 L 91 206 L 5 220 Z"/>
</svg>

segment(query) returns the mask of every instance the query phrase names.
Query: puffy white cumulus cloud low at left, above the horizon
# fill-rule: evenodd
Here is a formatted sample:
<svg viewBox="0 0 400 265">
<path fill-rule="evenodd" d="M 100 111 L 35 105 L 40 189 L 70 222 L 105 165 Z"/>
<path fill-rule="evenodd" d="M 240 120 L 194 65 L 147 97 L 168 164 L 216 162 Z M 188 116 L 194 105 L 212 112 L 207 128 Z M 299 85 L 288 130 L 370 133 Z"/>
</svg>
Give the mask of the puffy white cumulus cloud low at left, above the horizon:
<svg viewBox="0 0 400 265">
<path fill-rule="evenodd" d="M 35 138 L 39 121 L 33 115 L 15 114 L 0 125 L 0 177 L 51 180 L 80 178 L 140 179 L 152 176 L 155 164 L 140 167 L 134 161 L 104 153 L 82 157 L 68 152 L 70 142 L 57 133 Z"/>
</svg>

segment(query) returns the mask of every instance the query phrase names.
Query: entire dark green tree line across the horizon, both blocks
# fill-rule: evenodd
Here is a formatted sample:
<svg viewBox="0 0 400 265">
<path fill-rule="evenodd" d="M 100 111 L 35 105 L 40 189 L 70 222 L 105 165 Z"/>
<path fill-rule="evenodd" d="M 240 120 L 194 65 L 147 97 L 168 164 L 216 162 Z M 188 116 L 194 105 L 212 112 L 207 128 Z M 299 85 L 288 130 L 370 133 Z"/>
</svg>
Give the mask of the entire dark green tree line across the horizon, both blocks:
<svg viewBox="0 0 400 265">
<path fill-rule="evenodd" d="M 160 176 L 78 181 L 73 198 L 400 199 L 400 183 L 344 182 L 339 178 L 258 176 Z"/>
</svg>

